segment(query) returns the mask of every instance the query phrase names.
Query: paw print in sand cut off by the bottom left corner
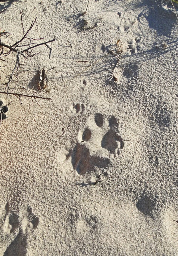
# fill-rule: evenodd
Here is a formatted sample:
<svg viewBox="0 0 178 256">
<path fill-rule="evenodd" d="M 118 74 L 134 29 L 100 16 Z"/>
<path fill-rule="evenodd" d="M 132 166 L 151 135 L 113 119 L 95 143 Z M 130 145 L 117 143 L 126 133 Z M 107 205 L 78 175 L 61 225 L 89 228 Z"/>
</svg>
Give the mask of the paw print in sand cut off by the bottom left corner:
<svg viewBox="0 0 178 256">
<path fill-rule="evenodd" d="M 38 226 L 39 218 L 32 213 L 30 206 L 17 214 L 9 210 L 9 203 L 1 210 L 0 253 L 4 256 L 25 256 L 27 252 L 27 238 L 31 230 Z"/>
</svg>

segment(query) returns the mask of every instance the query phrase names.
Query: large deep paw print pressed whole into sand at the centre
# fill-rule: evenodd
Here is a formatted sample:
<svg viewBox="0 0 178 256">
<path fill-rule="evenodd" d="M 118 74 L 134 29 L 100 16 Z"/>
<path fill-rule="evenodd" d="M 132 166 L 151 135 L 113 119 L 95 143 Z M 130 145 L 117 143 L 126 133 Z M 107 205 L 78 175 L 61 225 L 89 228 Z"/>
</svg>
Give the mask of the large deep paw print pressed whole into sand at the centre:
<svg viewBox="0 0 178 256">
<path fill-rule="evenodd" d="M 107 120 L 101 113 L 96 113 L 78 132 L 78 141 L 71 153 L 72 166 L 81 175 L 95 167 L 106 168 L 123 146 L 116 118 L 111 116 Z"/>
</svg>

